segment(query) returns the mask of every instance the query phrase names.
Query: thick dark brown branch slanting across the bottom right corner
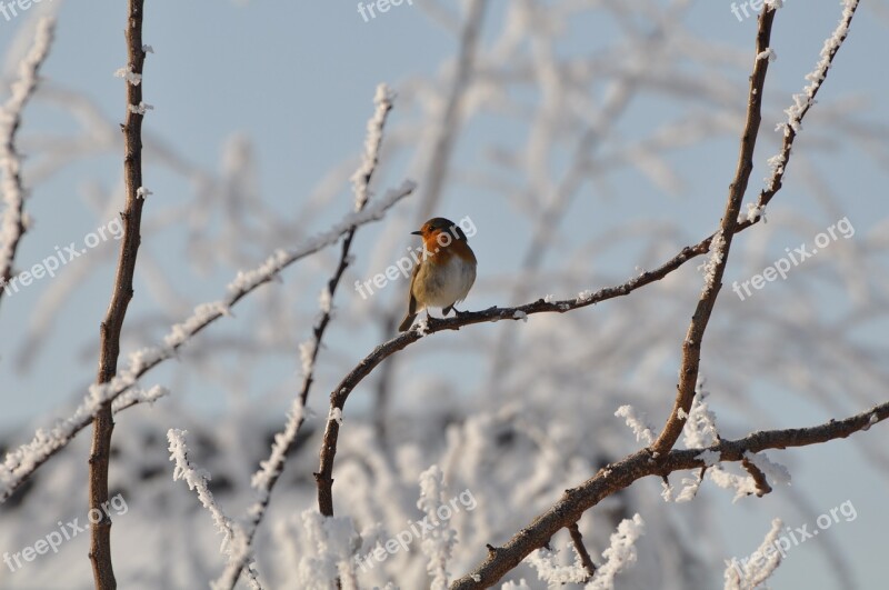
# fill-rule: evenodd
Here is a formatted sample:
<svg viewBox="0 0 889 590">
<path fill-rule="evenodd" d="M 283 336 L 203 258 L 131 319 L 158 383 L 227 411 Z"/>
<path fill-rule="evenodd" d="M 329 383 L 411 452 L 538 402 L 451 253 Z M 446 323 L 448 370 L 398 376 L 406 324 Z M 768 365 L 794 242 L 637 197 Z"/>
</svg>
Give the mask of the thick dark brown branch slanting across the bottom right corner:
<svg viewBox="0 0 889 590">
<path fill-rule="evenodd" d="M 673 471 L 707 467 L 701 453 L 720 453 L 720 461 L 739 462 L 746 452 L 768 449 L 808 447 L 843 439 L 860 430 L 868 430 L 889 418 L 889 402 L 847 418 L 823 424 L 787 430 L 769 430 L 749 434 L 738 440 L 721 440 L 707 449 L 672 450 L 655 461 L 649 449 L 641 449 L 616 463 L 609 464 L 577 488 L 566 490 L 562 498 L 545 513 L 522 528 L 506 544 L 489 548 L 488 558 L 472 572 L 456 580 L 451 590 L 489 588 L 517 567 L 531 551 L 543 547 L 560 529 L 577 522 L 585 511 L 605 498 L 628 488 L 639 479 L 657 476 L 663 478 Z"/>
</svg>

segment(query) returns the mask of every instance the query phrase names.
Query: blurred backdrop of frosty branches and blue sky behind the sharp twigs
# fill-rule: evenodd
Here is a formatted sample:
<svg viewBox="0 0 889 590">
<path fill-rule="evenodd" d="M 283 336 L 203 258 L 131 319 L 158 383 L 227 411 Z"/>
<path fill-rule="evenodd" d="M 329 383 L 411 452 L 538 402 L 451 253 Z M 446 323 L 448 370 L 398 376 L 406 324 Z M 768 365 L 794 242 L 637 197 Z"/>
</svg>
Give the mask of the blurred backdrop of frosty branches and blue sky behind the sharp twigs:
<svg viewBox="0 0 889 590">
<path fill-rule="evenodd" d="M 737 164 L 757 29 L 739 3 L 413 0 L 374 17 L 369 4 L 146 6 L 153 53 L 144 100 L 154 109 L 143 127 L 144 184 L 153 194 L 124 357 L 223 297 L 238 270 L 351 211 L 349 177 L 379 82 L 397 98 L 372 187 L 382 194 L 406 178 L 419 184 L 352 244 L 309 398 L 313 417 L 257 539 L 268 588 L 299 588 L 296 564 L 317 551 L 301 514 L 316 506 L 329 393 L 403 317 L 407 280 L 371 297 L 353 286 L 416 247 L 410 231 L 436 216 L 477 228 L 478 280 L 461 309 L 567 299 L 622 283 L 715 231 Z M 126 66 L 126 6 L 56 0 L 0 14 L 0 97 L 44 13 L 57 13 L 58 27 L 19 132 L 33 221 L 20 269 L 57 246 L 83 243 L 123 203 L 126 101 L 113 72 Z M 782 139 L 773 128 L 840 13 L 838 2 L 790 0 L 776 17 L 778 60 L 745 202 L 762 187 Z M 768 223 L 732 243 L 701 362 L 723 438 L 812 426 L 886 401 L 889 106 L 881 97 L 889 81 L 879 60 L 888 27 L 888 2 L 862 3 Z M 786 280 L 743 300 L 731 291 L 787 249 L 811 249 L 840 220 L 853 231 L 837 232 Z M 103 241 L 0 302 L 0 450 L 68 416 L 94 380 L 118 247 Z M 210 516 L 172 480 L 167 430 L 189 430 L 191 459 L 212 474 L 227 513 L 241 516 L 253 498 L 250 476 L 297 393 L 299 343 L 311 337 L 338 256 L 337 247 L 306 259 L 244 299 L 142 379 L 169 397 L 117 417 L 110 482 L 128 506 L 112 529 L 122 588 L 206 587 L 221 571 Z M 637 450 L 615 411 L 629 403 L 656 428 L 666 420 L 701 261 L 571 313 L 437 333 L 380 366 L 349 399 L 334 469 L 334 508 L 362 533 L 358 552 L 421 518 L 419 474 L 438 464 L 452 494 L 469 490 L 478 502 L 449 521 L 458 542 L 448 570 L 462 576 L 486 543 L 503 543 L 566 488 Z M 692 501 L 665 502 L 661 482 L 642 480 L 588 511 L 580 530 L 600 563 L 621 519 L 645 520 L 638 563 L 617 588 L 721 588 L 725 561 L 749 556 L 772 519 L 812 530 L 820 514 L 850 502 L 857 517 L 795 547 L 771 583 L 881 588 L 885 430 L 768 452 L 792 484 L 763 498 L 732 502 L 732 490 L 705 480 Z M 32 546 L 58 521 L 86 520 L 88 449 L 84 431 L 0 506 L 0 552 Z M 727 466 L 746 476 L 736 468 Z M 693 474 L 670 478 L 676 494 L 683 478 Z M 566 566 L 568 542 L 562 531 L 551 543 Z M 14 572 L 0 567 L 0 587 L 91 588 L 88 546 L 81 533 Z M 361 588 L 426 588 L 426 562 L 414 543 L 358 579 Z M 528 564 L 505 581 L 521 579 L 547 588 Z"/>
</svg>

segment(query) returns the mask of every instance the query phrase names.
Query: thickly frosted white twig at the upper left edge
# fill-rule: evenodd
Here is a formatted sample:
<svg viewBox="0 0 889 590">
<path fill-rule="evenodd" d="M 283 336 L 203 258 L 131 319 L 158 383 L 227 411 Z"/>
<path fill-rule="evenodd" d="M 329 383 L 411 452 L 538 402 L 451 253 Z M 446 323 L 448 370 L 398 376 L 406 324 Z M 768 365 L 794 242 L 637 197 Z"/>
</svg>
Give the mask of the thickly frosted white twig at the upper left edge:
<svg viewBox="0 0 889 590">
<path fill-rule="evenodd" d="M 0 193 L 6 211 L 0 221 L 0 299 L 12 280 L 12 264 L 21 237 L 28 230 L 24 214 L 26 190 L 21 179 L 21 154 L 16 136 L 21 126 L 24 107 L 37 90 L 38 72 L 49 56 L 56 31 L 56 20 L 43 17 L 37 23 L 34 44 L 19 64 L 19 80 L 12 84 L 12 96 L 0 108 Z"/>
</svg>

